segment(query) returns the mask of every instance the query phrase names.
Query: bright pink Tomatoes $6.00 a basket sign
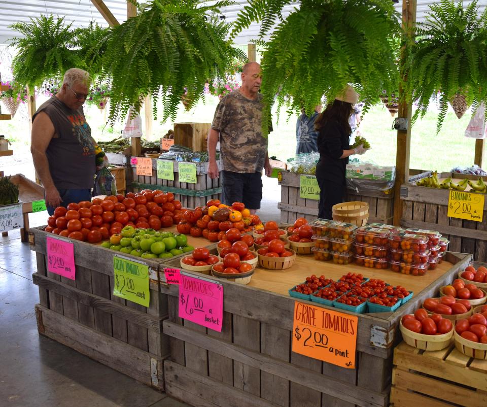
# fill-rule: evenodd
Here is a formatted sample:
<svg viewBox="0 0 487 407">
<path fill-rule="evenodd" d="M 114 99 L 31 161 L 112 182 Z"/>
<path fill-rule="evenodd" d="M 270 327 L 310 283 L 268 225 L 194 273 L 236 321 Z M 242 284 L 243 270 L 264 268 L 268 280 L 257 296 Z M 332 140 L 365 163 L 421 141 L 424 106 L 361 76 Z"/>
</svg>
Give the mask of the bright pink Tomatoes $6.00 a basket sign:
<svg viewBox="0 0 487 407">
<path fill-rule="evenodd" d="M 179 285 L 179 317 L 221 332 L 223 286 L 182 274 Z"/>
</svg>

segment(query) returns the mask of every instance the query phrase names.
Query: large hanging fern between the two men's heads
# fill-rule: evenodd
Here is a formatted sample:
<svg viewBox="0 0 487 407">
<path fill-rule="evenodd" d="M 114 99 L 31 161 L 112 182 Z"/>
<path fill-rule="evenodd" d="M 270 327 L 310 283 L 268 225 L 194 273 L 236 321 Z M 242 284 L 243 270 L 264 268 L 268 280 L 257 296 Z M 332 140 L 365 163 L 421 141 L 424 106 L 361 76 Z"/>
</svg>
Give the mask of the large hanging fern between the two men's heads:
<svg viewBox="0 0 487 407">
<path fill-rule="evenodd" d="M 216 15 L 231 4 L 152 0 L 139 7 L 136 17 L 112 28 L 102 61 L 102 78 L 112 78 L 110 120 L 123 118 L 131 106 L 140 110 L 147 95 L 153 97 L 154 117 L 161 98 L 162 121 L 174 120 L 182 97 L 191 108 L 205 83 L 223 78 L 234 58 L 246 59 L 225 39 L 230 26 Z"/>
</svg>

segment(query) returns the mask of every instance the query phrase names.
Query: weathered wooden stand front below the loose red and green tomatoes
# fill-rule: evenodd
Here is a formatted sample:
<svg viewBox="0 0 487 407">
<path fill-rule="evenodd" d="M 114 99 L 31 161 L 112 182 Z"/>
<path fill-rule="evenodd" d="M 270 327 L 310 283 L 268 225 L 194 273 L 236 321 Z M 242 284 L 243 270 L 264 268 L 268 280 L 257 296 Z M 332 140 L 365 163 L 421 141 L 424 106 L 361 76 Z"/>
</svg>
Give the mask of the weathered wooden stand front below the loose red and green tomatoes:
<svg viewBox="0 0 487 407">
<path fill-rule="evenodd" d="M 112 294 L 113 256 L 117 254 L 113 250 L 72 241 L 76 280 L 48 272 L 47 236 L 53 234 L 42 228 L 29 233 L 37 257 L 32 280 L 39 286 L 35 307 L 39 333 L 163 391 L 163 361 L 169 355 L 169 343 L 162 333 L 167 298 L 159 290 L 159 262 L 134 258 L 149 266 L 150 304 L 146 308 Z"/>
</svg>

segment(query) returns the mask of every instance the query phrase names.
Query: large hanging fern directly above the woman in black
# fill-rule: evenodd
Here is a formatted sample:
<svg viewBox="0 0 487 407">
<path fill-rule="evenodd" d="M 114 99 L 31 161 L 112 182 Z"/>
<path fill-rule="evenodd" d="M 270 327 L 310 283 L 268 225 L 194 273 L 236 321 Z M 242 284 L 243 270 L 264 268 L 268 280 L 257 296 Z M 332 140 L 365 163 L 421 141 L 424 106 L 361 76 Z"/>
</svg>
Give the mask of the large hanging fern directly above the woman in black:
<svg viewBox="0 0 487 407">
<path fill-rule="evenodd" d="M 285 0 L 255 0 L 243 8 L 232 37 L 262 21 L 261 38 L 277 19 L 264 45 L 262 93 L 277 102 L 312 112 L 323 96 L 333 99 L 352 84 L 365 109 L 382 90 L 398 89 L 399 14 L 390 0 L 303 0 L 284 19 Z M 264 125 L 266 128 L 267 125 Z"/>
</svg>

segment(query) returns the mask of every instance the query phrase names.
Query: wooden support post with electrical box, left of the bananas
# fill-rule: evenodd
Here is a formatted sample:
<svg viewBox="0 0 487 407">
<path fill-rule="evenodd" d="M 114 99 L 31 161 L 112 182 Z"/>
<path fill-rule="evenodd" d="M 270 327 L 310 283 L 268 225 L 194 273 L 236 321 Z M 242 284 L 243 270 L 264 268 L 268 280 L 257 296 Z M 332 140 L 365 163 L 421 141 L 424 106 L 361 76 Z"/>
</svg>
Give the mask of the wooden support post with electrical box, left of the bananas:
<svg viewBox="0 0 487 407">
<path fill-rule="evenodd" d="M 402 0 L 402 27 L 412 35 L 411 28 L 416 22 L 416 0 Z M 403 73 L 403 64 L 405 56 L 405 45 L 401 50 L 401 66 L 399 70 L 401 75 Z M 405 79 L 407 80 L 407 78 Z M 399 89 L 399 99 L 402 100 L 399 104 L 398 117 L 405 117 L 407 119 L 407 130 L 397 131 L 397 145 L 396 145 L 396 184 L 394 187 L 394 224 L 399 225 L 402 217 L 402 200 L 401 200 L 401 184 L 407 182 L 409 179 L 409 156 L 411 147 L 411 115 L 412 104 L 410 100 L 404 99 L 404 89 Z"/>
</svg>

